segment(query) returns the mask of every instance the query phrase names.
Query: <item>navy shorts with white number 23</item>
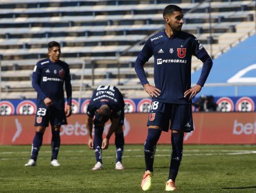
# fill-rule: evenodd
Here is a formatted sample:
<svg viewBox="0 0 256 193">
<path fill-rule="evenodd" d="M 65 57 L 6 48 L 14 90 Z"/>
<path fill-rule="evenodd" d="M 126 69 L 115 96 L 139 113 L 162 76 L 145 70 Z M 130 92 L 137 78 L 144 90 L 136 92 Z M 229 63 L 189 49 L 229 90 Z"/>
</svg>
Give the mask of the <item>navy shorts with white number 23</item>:
<svg viewBox="0 0 256 193">
<path fill-rule="evenodd" d="M 66 125 L 66 114 L 64 109 L 57 109 L 55 106 L 46 108 L 45 105 L 37 106 L 35 115 L 35 126 L 48 127 L 49 122 L 52 126 Z"/>
</svg>

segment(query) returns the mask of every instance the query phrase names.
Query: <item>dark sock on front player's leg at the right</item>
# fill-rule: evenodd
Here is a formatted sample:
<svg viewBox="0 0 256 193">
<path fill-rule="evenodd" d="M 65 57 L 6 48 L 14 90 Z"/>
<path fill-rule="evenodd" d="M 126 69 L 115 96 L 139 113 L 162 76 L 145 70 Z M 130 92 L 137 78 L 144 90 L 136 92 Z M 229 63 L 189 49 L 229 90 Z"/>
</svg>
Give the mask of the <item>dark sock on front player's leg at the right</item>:
<svg viewBox="0 0 256 193">
<path fill-rule="evenodd" d="M 170 163 L 169 179 L 175 181 L 181 165 L 181 159 L 183 155 L 183 136 L 179 132 L 172 133 L 172 156 Z"/>
</svg>

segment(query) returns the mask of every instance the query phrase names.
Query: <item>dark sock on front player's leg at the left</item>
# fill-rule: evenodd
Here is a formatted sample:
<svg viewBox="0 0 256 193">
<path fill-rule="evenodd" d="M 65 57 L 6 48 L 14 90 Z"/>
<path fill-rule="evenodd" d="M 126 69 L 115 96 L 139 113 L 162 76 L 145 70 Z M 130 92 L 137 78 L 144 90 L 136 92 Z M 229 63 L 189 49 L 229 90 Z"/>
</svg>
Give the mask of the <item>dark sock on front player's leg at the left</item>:
<svg viewBox="0 0 256 193">
<path fill-rule="evenodd" d="M 148 129 L 147 139 L 144 144 L 146 171 L 149 170 L 150 172 L 153 172 L 156 143 L 161 136 L 161 132 L 161 129 Z"/>
</svg>

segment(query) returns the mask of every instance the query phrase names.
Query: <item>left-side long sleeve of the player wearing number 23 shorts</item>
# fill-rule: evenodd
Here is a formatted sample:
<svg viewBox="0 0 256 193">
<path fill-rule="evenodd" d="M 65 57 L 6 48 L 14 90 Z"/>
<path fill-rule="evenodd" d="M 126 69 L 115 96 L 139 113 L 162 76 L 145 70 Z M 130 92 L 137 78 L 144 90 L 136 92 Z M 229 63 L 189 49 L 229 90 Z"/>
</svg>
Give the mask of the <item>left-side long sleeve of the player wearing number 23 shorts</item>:
<svg viewBox="0 0 256 193">
<path fill-rule="evenodd" d="M 44 94 L 42 88 L 40 87 L 40 80 L 41 80 L 41 73 L 42 73 L 42 68 L 39 62 L 35 65 L 35 68 L 33 70 L 32 74 L 32 86 L 39 95 L 39 97 L 44 100 L 46 99 L 46 94 Z"/>
</svg>

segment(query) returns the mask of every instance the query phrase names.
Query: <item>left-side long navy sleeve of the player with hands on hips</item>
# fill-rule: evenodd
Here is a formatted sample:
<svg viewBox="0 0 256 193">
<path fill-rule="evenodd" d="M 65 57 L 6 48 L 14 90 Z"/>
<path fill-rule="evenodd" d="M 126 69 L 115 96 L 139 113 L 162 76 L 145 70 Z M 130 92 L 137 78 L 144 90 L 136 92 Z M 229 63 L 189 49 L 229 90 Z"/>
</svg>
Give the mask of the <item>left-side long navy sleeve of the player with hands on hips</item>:
<svg viewBox="0 0 256 193">
<path fill-rule="evenodd" d="M 147 81 L 147 77 L 146 77 L 143 65 L 147 61 L 149 61 L 149 59 L 150 59 L 150 57 L 152 57 L 152 55 L 153 55 L 152 45 L 150 43 L 150 39 L 147 39 L 145 45 L 143 46 L 143 49 L 138 54 L 138 57 L 134 64 L 136 74 L 138 76 L 138 79 L 140 79 L 140 83 L 142 85 L 149 83 L 149 81 Z"/>
</svg>

